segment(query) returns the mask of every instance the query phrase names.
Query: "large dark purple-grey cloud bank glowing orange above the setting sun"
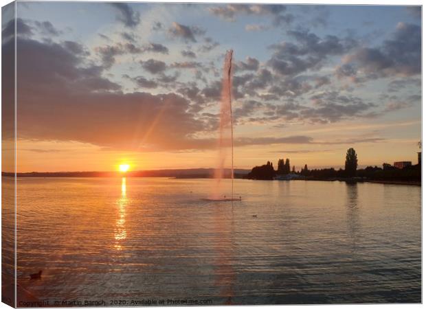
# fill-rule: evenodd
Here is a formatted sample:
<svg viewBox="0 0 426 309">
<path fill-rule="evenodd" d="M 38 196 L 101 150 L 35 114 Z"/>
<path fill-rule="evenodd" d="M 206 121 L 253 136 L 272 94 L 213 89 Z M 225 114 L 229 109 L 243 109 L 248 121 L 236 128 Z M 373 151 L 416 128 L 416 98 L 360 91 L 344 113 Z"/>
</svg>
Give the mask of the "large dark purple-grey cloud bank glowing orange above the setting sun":
<svg viewBox="0 0 426 309">
<path fill-rule="evenodd" d="M 208 146 L 194 139 L 205 124 L 181 95 L 122 93 L 102 78 L 102 67 L 85 65 L 79 54 L 57 43 L 19 38 L 17 56 L 23 139 L 146 151 Z M 146 80 L 135 80 L 146 86 Z"/>
</svg>

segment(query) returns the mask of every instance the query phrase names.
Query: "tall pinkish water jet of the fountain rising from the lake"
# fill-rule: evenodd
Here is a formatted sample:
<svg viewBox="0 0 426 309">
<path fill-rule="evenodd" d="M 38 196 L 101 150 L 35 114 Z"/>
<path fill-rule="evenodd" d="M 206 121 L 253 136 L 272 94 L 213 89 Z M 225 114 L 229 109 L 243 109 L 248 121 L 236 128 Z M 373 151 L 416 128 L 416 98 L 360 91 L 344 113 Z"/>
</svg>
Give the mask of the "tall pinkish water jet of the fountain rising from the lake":
<svg viewBox="0 0 426 309">
<path fill-rule="evenodd" d="M 219 122 L 219 139 L 218 139 L 218 168 L 216 168 L 214 178 L 216 179 L 216 188 L 213 198 L 234 198 L 234 128 L 232 123 L 232 54 L 234 51 L 228 50 L 223 64 L 223 81 L 221 96 L 221 111 Z M 225 178 L 225 163 L 230 150 L 231 165 L 231 196 L 226 198 L 223 190 L 221 190 L 221 181 Z"/>
</svg>

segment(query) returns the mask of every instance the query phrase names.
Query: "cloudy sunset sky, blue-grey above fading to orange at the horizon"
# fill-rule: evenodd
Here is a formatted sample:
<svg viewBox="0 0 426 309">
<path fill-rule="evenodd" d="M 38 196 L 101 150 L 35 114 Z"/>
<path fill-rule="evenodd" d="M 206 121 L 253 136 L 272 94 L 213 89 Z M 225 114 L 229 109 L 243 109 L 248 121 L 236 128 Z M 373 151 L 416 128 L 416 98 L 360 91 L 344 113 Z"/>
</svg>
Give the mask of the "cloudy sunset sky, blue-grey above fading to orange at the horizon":
<svg viewBox="0 0 426 309">
<path fill-rule="evenodd" d="M 236 168 L 339 168 L 350 147 L 361 167 L 416 163 L 420 7 L 18 2 L 16 17 L 18 172 L 214 168 L 227 49 Z"/>
</svg>

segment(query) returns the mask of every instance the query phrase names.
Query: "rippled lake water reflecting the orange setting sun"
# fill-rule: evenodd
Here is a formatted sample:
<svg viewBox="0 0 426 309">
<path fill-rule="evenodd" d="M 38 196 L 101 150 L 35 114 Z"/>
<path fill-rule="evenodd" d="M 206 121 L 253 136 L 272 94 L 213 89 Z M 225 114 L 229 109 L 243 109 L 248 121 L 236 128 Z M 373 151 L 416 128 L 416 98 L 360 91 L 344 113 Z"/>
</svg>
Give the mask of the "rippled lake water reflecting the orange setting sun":
<svg viewBox="0 0 426 309">
<path fill-rule="evenodd" d="M 421 301 L 421 187 L 237 179 L 242 201 L 212 202 L 211 179 L 17 183 L 18 284 L 49 304 Z"/>
</svg>

